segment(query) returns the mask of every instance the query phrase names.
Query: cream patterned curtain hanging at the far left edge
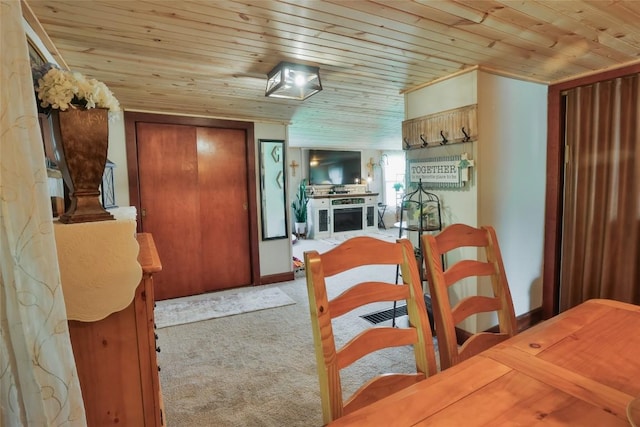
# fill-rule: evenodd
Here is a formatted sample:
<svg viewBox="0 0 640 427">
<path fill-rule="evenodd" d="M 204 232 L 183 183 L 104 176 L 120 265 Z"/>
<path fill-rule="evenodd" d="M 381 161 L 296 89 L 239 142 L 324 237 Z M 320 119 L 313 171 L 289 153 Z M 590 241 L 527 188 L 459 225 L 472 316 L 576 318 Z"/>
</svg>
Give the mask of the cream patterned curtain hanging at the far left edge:
<svg viewBox="0 0 640 427">
<path fill-rule="evenodd" d="M 86 426 L 17 0 L 0 43 L 0 425 Z"/>
</svg>

